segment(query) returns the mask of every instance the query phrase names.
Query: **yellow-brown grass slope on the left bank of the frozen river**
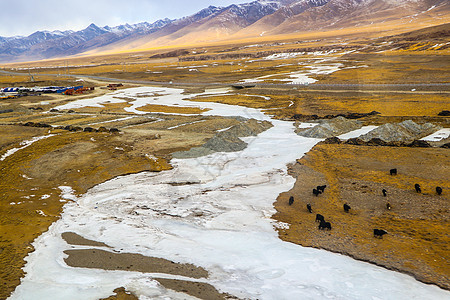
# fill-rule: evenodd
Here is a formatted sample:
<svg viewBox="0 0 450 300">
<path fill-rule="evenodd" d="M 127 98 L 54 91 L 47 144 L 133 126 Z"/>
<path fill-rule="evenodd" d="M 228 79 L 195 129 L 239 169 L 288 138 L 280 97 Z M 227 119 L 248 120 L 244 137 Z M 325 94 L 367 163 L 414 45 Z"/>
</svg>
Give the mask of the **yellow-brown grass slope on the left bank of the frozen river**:
<svg viewBox="0 0 450 300">
<path fill-rule="evenodd" d="M 7 148 L 47 131 L 1 127 L 0 140 L 8 141 Z M 58 186 L 70 185 L 82 194 L 118 175 L 170 168 L 164 159 L 150 160 L 131 151 L 116 150 L 116 146 L 127 148 L 117 138 L 101 133 L 61 132 L 0 162 L 0 264 L 4 266 L 0 298 L 7 297 L 19 283 L 23 258 L 33 250 L 31 242 L 58 218 L 64 204 L 59 201 Z"/>
</svg>

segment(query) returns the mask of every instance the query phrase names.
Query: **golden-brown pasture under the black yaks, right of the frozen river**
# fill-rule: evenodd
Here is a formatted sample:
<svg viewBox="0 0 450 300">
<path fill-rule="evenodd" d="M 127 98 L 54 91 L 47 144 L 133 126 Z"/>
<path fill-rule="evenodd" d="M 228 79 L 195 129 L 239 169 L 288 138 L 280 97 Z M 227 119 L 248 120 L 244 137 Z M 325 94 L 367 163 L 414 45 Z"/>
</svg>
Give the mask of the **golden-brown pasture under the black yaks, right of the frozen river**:
<svg viewBox="0 0 450 300">
<path fill-rule="evenodd" d="M 291 224 L 280 238 L 322 248 L 450 288 L 450 166 L 447 149 L 319 144 L 291 165 L 297 181 L 280 194 L 274 218 Z M 398 169 L 391 176 L 389 170 Z M 416 193 L 419 183 L 422 193 Z M 327 185 L 314 196 L 312 189 Z M 444 190 L 435 192 L 436 186 Z M 387 190 L 383 197 L 382 189 Z M 288 199 L 294 196 L 294 204 Z M 306 204 L 310 203 L 313 213 Z M 344 212 L 347 203 L 351 209 Z M 391 210 L 386 204 L 391 205 Z M 319 230 L 316 213 L 332 230 Z M 382 239 L 373 230 L 388 232 Z"/>
</svg>

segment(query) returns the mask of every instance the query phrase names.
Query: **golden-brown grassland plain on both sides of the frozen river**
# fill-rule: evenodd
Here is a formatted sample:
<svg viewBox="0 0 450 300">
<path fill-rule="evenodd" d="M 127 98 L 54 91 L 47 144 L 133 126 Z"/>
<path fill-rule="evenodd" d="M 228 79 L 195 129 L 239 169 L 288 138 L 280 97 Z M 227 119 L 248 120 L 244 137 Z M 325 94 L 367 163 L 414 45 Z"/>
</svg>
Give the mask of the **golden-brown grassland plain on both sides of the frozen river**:
<svg viewBox="0 0 450 300">
<path fill-rule="evenodd" d="M 24 68 L 23 76 L 0 74 L 2 86 L 66 85 L 77 84 L 74 78 L 45 74 L 96 75 L 122 80 L 187 82 L 189 90 L 202 91 L 205 84 L 220 82 L 229 85 L 240 80 L 271 76 L 263 82 L 282 83 L 293 72 L 308 72 L 308 65 L 340 64 L 340 70 L 329 74 L 308 74 L 320 83 L 427 83 L 448 82 L 449 49 L 432 49 L 411 44 L 405 49 L 385 49 L 372 45 L 371 40 L 355 35 L 336 40 L 334 37 L 298 43 L 267 43 L 246 47 L 243 44 L 215 45 L 196 49 L 208 51 L 209 57 L 184 61 L 182 58 L 151 58 L 158 51 L 74 58 L 69 61 L 47 61 L 6 66 Z M 329 52 L 336 45 L 348 43 L 337 53 Z M 384 45 L 384 44 L 383 44 Z M 395 45 L 394 45 L 395 46 Z M 355 53 L 349 51 L 361 50 Z M 372 50 L 370 50 L 372 49 Z M 164 50 L 166 51 L 166 50 Z M 168 50 L 167 50 L 168 51 Z M 374 53 L 375 51 L 382 51 Z M 159 51 L 161 52 L 161 51 Z M 363 53 L 364 52 L 364 53 Z M 243 54 L 232 59 L 222 54 Z M 274 53 L 291 53 L 283 59 L 268 59 Z M 194 55 L 195 56 L 195 55 Z M 26 68 L 31 67 L 28 71 Z M 17 71 L 17 70 L 16 70 Z M 28 73 L 34 76 L 30 81 Z M 275 75 L 275 76 L 273 76 Z M 105 85 L 94 82 L 93 85 Z M 192 88 L 191 84 L 197 84 Z M 276 118 L 293 120 L 296 114 L 368 113 L 381 115 L 363 119 L 365 124 L 383 124 L 413 119 L 416 122 L 432 121 L 448 127 L 448 117 L 437 113 L 448 110 L 448 88 L 433 90 L 425 87 L 409 89 L 374 90 L 373 88 L 316 88 L 307 87 L 255 87 L 234 91 L 230 95 L 196 98 L 195 101 L 212 101 L 264 109 Z M 32 137 L 49 134 L 47 128 L 24 127 L 28 121 L 51 125 L 93 126 L 108 124 L 122 134 L 68 132 L 51 129 L 54 134 L 0 161 L 1 203 L 0 263 L 7 266 L 2 272 L 0 298 L 5 298 L 19 283 L 23 275 L 23 258 L 33 249 L 31 242 L 54 222 L 64 202 L 60 202 L 59 186 L 71 186 L 76 194 L 110 178 L 145 170 L 160 171 L 170 168 L 168 160 L 175 151 L 199 146 L 216 130 L 235 125 L 235 119 L 201 116 L 167 116 L 158 113 L 180 112 L 177 108 L 147 106 L 142 111 L 149 116 L 132 116 L 124 111 L 129 102 L 105 105 L 103 108 L 85 107 L 73 113 L 42 113 L 29 108 L 41 106 L 45 111 L 83 97 L 93 97 L 108 92 L 96 89 L 90 95 L 63 97 L 24 97 L 2 101 L 0 108 L 13 108 L 14 112 L 0 115 L 1 154 L 19 147 L 19 143 Z M 270 97 L 268 100 L 267 97 Z M 170 110 L 170 111 L 169 111 Z M 184 111 L 186 112 L 186 111 Z M 190 113 L 199 113 L 193 110 Z M 131 119 L 124 119 L 129 118 Z M 158 122 L 156 122 L 158 120 Z M 203 121 L 202 123 L 195 123 Z M 98 123 L 98 124 L 96 124 Z M 96 124 L 96 125 L 91 125 Z M 172 128 L 172 129 L 169 129 Z M 154 138 L 156 134 L 162 138 Z M 449 288 L 448 263 L 448 197 L 449 187 L 445 177 L 448 165 L 446 149 L 410 149 L 390 147 L 356 147 L 348 145 L 320 145 L 311 151 L 300 164 L 292 166 L 297 184 L 292 191 L 280 195 L 275 204 L 280 221 L 291 224 L 280 230 L 284 240 L 304 246 L 325 248 L 367 260 L 416 276 L 416 278 Z M 156 160 L 149 159 L 151 154 Z M 386 159 L 389 158 L 389 161 Z M 421 161 L 436 168 L 421 172 Z M 386 176 L 386 165 L 401 170 L 399 177 Z M 448 174 L 448 172 L 446 172 Z M 305 203 L 311 201 L 311 186 L 320 181 L 329 189 L 320 199 L 313 199 L 313 209 L 320 209 L 333 223 L 331 232 L 318 231 Z M 411 184 L 420 181 L 427 190 L 423 195 L 411 191 Z M 355 182 L 355 184 L 353 184 Z M 302 184 L 300 184 L 302 183 Z M 431 189 L 434 185 L 445 188 L 438 198 Z M 385 211 L 379 190 L 389 186 L 392 211 Z M 287 195 L 296 199 L 294 207 L 286 206 Z M 392 195 L 392 197 L 391 197 Z M 394 197 L 395 196 L 395 197 Z M 379 199 L 381 198 L 381 199 Z M 424 206 L 424 199 L 427 206 Z M 352 206 L 350 215 L 342 211 L 342 202 Z M 445 202 L 447 201 L 447 202 Z M 15 203 L 11 205 L 11 203 Z M 303 216 L 303 214 L 305 214 Z M 299 219 L 299 216 L 304 219 Z M 447 221 L 446 221 L 447 220 Z M 385 224 L 389 234 L 383 240 L 373 239 L 372 227 Z M 426 249 L 427 251 L 423 251 Z M 418 262 L 415 264 L 415 262 Z M 162 283 L 168 285 L 169 283 Z M 174 286 L 180 286 L 180 283 Z M 190 289 L 181 285 L 181 290 Z M 175 288 L 174 288 L 175 289 Z M 119 291 L 123 295 L 125 291 Z M 121 296 L 118 296 L 121 297 Z M 125 296 L 124 296 L 125 297 Z M 120 298 L 119 298 L 120 299 Z"/>
</svg>

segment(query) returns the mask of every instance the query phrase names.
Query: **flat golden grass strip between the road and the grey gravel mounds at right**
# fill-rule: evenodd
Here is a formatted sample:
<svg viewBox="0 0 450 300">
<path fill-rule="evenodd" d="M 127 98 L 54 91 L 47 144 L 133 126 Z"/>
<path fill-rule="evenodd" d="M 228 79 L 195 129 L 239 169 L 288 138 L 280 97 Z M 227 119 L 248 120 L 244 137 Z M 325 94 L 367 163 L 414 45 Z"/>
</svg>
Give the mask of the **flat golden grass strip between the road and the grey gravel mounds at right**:
<svg viewBox="0 0 450 300">
<path fill-rule="evenodd" d="M 448 109 L 447 93 L 296 91 L 274 88 L 249 89 L 246 93 L 248 94 L 198 97 L 192 100 L 261 108 L 266 114 L 282 119 L 291 119 L 295 114 L 325 116 L 342 113 L 369 113 L 371 111 L 378 111 L 385 118 L 437 117 L 439 112 Z M 266 100 L 264 97 L 270 97 L 270 100 Z M 445 118 L 442 118 L 442 121 L 445 123 Z"/>
</svg>

